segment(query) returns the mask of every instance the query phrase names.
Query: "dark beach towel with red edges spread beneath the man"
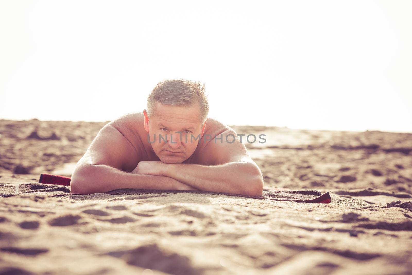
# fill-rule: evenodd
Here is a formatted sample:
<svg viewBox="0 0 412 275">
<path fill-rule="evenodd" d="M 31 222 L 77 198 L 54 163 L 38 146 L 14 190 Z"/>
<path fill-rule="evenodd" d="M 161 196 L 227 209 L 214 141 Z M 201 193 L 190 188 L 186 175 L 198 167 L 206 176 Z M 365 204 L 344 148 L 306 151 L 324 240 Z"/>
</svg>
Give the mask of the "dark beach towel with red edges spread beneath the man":
<svg viewBox="0 0 412 275">
<path fill-rule="evenodd" d="M 40 175 L 39 184 L 44 184 L 45 189 L 50 191 L 58 191 L 62 190 L 59 187 L 56 189 L 50 189 L 48 184 L 52 185 L 62 185 L 62 186 L 69 186 L 70 185 L 70 177 L 63 177 L 59 175 L 52 175 L 43 173 Z M 38 186 L 41 187 L 41 186 Z M 48 187 L 48 188 L 47 188 Z M 35 188 L 35 186 L 32 186 Z M 34 189 L 36 190 L 36 189 Z M 37 189 L 38 190 L 38 189 Z M 64 189 L 66 190 L 66 189 Z M 107 194 L 111 195 L 121 195 L 121 194 L 147 194 L 147 193 L 182 193 L 182 192 L 190 192 L 190 193 L 214 193 L 215 192 L 208 192 L 208 191 L 178 191 L 178 190 L 150 190 L 150 189 L 116 189 L 113 191 L 106 192 Z M 70 189 L 67 188 L 67 192 L 70 193 Z M 74 194 L 73 195 L 84 195 L 84 194 Z M 330 203 L 330 194 L 329 192 L 322 194 L 320 191 L 317 190 L 286 190 L 286 189 L 264 189 L 262 192 L 262 196 L 246 196 L 243 194 L 232 194 L 232 193 L 223 193 L 220 192 L 218 194 L 223 194 L 227 196 L 238 196 L 238 197 L 245 197 L 245 198 L 255 198 L 255 199 L 268 199 L 268 200 L 278 200 L 278 201 L 294 201 L 297 203 Z M 63 194 L 54 194 L 52 196 L 63 196 Z"/>
</svg>

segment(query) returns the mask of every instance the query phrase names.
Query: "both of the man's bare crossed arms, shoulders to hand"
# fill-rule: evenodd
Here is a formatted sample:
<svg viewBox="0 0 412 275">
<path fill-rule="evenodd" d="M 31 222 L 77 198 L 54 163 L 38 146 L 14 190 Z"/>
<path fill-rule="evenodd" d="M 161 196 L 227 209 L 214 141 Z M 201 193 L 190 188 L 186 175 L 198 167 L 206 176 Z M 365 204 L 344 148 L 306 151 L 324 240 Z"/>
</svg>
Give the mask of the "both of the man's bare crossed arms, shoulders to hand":
<svg viewBox="0 0 412 275">
<path fill-rule="evenodd" d="M 237 136 L 231 130 L 223 133 L 227 134 Z M 136 159 L 136 151 L 128 148 L 131 145 L 125 140 L 117 128 L 110 124 L 105 126 L 77 163 L 70 183 L 71 192 L 104 193 L 136 188 L 262 195 L 262 173 L 239 140 L 232 144 L 209 142 L 201 158 L 212 165 L 140 161 L 131 173 L 122 171 L 128 166 L 122 160 Z M 110 149 L 108 144 L 112 145 Z"/>
</svg>

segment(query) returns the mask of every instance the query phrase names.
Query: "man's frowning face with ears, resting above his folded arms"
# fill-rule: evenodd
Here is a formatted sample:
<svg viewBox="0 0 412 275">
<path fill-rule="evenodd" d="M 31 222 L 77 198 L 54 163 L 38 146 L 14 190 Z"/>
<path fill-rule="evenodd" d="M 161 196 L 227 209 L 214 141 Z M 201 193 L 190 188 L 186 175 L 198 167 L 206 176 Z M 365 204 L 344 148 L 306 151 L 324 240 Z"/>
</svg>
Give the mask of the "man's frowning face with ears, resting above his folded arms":
<svg viewBox="0 0 412 275">
<path fill-rule="evenodd" d="M 206 126 L 206 122 L 202 125 L 198 105 L 179 107 L 157 103 L 150 118 L 146 110 L 143 113 L 145 130 L 150 135 L 155 154 L 162 162 L 182 163 L 193 154 L 200 140 L 197 137 L 203 135 Z"/>
</svg>

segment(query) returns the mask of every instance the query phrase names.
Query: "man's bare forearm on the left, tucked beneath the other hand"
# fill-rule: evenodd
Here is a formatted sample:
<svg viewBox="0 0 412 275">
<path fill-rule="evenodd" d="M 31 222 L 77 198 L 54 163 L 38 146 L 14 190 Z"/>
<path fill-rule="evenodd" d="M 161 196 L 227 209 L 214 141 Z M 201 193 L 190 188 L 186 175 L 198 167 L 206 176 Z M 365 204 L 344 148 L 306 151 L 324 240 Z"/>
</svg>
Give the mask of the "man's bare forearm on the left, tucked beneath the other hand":
<svg viewBox="0 0 412 275">
<path fill-rule="evenodd" d="M 73 172 L 71 193 L 105 193 L 120 188 L 176 190 L 182 188 L 175 179 L 136 175 L 108 165 L 83 165 Z"/>
</svg>

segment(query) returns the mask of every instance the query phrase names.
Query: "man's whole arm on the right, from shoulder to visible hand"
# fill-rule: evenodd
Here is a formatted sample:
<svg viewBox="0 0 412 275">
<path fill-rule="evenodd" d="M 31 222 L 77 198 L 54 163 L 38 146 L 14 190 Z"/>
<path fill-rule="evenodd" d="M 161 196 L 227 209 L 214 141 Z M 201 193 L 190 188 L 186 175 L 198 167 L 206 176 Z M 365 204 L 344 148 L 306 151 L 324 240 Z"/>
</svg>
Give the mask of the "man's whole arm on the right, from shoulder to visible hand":
<svg viewBox="0 0 412 275">
<path fill-rule="evenodd" d="M 200 153 L 202 162 L 212 165 L 143 161 L 133 173 L 171 177 L 202 191 L 261 196 L 263 177 L 258 165 L 234 131 L 227 130 L 222 135 L 222 143 L 213 139 Z M 234 135 L 235 142 L 227 143 L 226 135 Z"/>
</svg>

